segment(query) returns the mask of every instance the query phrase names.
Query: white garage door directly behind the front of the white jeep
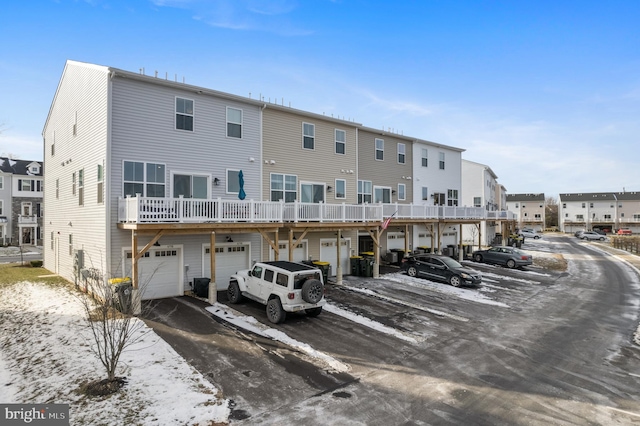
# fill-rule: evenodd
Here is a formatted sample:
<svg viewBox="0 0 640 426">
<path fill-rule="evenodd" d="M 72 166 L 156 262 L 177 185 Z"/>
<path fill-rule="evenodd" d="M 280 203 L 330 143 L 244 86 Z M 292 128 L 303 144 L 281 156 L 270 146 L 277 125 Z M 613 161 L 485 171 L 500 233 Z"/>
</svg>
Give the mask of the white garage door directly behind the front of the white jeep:
<svg viewBox="0 0 640 426">
<path fill-rule="evenodd" d="M 216 287 L 226 290 L 229 278 L 241 269 L 249 269 L 251 261 L 249 243 L 218 244 L 216 245 Z M 205 245 L 202 254 L 203 277 L 211 276 L 210 245 Z"/>
</svg>

